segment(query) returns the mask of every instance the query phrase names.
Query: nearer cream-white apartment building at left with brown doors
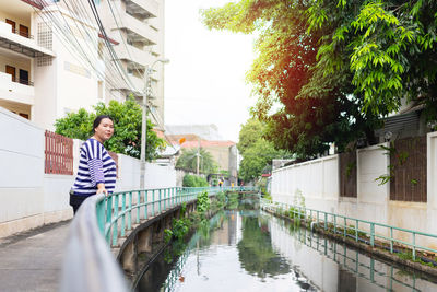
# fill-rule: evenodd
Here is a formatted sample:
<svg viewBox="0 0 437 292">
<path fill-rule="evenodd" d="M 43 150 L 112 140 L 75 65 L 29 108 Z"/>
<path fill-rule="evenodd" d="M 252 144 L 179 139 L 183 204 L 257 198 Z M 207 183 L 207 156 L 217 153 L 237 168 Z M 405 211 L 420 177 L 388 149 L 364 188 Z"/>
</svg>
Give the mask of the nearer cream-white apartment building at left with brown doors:
<svg viewBox="0 0 437 292">
<path fill-rule="evenodd" d="M 0 106 L 52 130 L 66 113 L 104 101 L 105 67 L 90 21 L 54 1 L 40 3 L 0 1 Z"/>
</svg>

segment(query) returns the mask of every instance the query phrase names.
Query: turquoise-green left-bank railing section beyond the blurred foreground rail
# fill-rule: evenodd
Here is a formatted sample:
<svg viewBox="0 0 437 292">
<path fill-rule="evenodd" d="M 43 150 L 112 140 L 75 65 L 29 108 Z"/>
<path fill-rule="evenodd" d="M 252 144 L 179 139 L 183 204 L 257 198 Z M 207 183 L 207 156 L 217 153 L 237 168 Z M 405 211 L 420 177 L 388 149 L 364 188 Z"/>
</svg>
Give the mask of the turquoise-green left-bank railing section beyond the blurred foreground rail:
<svg viewBox="0 0 437 292">
<path fill-rule="evenodd" d="M 209 196 L 220 191 L 253 191 L 255 187 L 158 188 L 114 192 L 96 203 L 97 224 L 110 246 L 132 230 L 133 224 L 158 215 L 182 202 L 196 200 L 202 191 Z"/>
</svg>

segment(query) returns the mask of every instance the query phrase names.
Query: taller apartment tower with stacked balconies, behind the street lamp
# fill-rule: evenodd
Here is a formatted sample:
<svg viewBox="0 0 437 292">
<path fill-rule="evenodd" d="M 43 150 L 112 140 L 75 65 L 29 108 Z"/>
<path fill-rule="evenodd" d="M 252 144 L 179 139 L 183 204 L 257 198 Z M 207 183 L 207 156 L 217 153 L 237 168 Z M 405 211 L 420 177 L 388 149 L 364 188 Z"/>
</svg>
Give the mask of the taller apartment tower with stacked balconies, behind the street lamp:
<svg viewBox="0 0 437 292">
<path fill-rule="evenodd" d="M 133 94 L 142 104 L 145 71 L 153 66 L 149 82 L 149 117 L 157 129 L 164 130 L 164 66 L 157 62 L 164 58 L 164 0 L 102 0 L 98 13 L 107 35 L 119 43 L 114 49 L 134 89 L 131 91 L 126 83 L 119 87 L 107 85 L 106 96 L 125 101 Z"/>
</svg>

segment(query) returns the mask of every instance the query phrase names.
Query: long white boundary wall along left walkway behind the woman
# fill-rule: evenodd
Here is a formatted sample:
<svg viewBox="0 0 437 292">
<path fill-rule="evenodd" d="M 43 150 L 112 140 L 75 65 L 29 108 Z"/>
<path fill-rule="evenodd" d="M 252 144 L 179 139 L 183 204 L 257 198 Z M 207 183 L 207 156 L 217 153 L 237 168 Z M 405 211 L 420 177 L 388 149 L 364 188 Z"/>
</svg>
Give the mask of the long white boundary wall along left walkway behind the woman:
<svg viewBox="0 0 437 292">
<path fill-rule="evenodd" d="M 0 107 L 0 237 L 72 218 L 69 190 L 74 175 L 44 173 L 44 130 Z M 81 144 L 74 140 L 74 173 Z M 116 191 L 139 189 L 140 170 L 139 160 L 119 154 Z M 176 171 L 147 163 L 144 185 L 175 187 Z"/>
</svg>

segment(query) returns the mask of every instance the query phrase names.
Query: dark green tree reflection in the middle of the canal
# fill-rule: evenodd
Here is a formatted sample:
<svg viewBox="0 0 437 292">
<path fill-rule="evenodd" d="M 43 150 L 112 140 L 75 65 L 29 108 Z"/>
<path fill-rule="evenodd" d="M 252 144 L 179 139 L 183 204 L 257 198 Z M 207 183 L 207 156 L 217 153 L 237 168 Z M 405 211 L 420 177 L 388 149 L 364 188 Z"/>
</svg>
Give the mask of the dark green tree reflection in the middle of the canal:
<svg viewBox="0 0 437 292">
<path fill-rule="evenodd" d="M 273 250 L 267 221 L 244 217 L 241 223 L 243 238 L 237 248 L 245 270 L 259 278 L 288 273 L 288 262 Z"/>
</svg>

